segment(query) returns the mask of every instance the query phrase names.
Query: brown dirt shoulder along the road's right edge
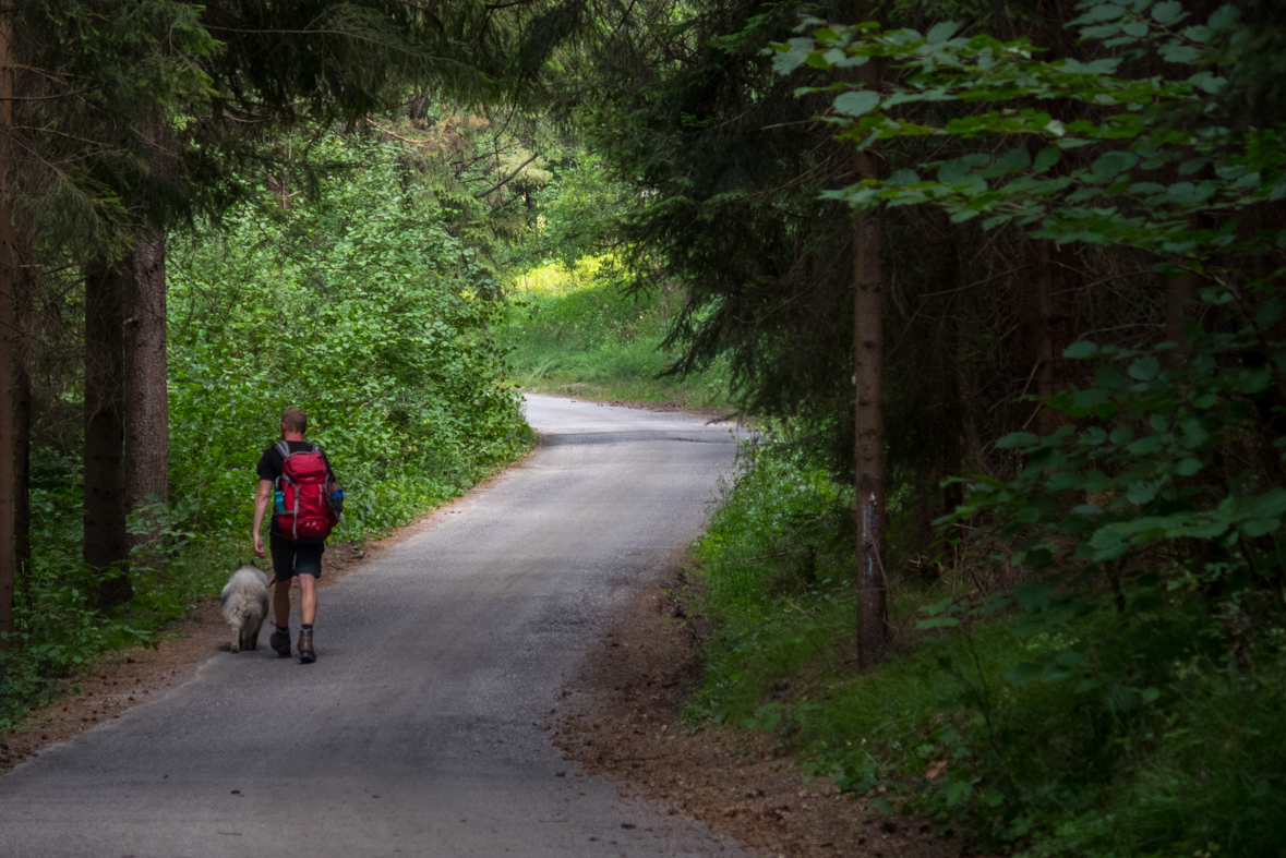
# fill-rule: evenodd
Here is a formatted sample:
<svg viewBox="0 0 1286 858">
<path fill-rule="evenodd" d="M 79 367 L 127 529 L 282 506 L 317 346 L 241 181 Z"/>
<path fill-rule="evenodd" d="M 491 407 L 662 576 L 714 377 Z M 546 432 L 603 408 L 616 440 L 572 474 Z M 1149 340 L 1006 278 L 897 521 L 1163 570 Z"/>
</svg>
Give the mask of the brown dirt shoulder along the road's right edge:
<svg viewBox="0 0 1286 858">
<path fill-rule="evenodd" d="M 772 736 L 688 736 L 679 706 L 700 682 L 693 624 L 670 596 L 682 559 L 646 586 L 590 650 L 549 730 L 567 759 L 701 819 L 766 855 L 957 858 L 922 819 L 889 817 L 808 777 Z"/>
</svg>

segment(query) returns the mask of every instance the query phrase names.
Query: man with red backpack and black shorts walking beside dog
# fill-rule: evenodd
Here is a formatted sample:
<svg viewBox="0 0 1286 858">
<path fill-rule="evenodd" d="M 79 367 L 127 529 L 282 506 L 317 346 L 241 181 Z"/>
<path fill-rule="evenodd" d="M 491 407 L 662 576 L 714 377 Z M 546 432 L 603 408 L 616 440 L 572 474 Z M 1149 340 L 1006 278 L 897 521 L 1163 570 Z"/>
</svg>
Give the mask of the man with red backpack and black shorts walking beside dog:
<svg viewBox="0 0 1286 858">
<path fill-rule="evenodd" d="M 291 578 L 300 579 L 300 664 L 316 660 L 312 649 L 312 620 L 316 619 L 316 579 L 322 577 L 325 537 L 338 521 L 332 511 L 334 473 L 325 453 L 303 441 L 309 419 L 301 408 L 282 415 L 282 441 L 264 451 L 258 460 L 258 492 L 255 495 L 255 554 L 264 556 L 260 527 L 269 505 L 273 523 L 269 550 L 273 554 L 273 614 L 276 628 L 269 644 L 279 656 L 291 655 Z M 338 495 L 342 497 L 342 493 Z"/>
</svg>

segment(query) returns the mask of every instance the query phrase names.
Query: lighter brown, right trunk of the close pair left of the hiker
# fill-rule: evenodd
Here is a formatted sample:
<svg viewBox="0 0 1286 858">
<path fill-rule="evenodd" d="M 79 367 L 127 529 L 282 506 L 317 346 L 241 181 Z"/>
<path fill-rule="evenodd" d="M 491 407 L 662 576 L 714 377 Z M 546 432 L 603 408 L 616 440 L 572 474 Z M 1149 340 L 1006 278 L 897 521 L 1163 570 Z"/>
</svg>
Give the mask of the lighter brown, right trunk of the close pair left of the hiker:
<svg viewBox="0 0 1286 858">
<path fill-rule="evenodd" d="M 126 506 L 170 500 L 170 403 L 166 396 L 165 232 L 141 231 L 134 241 L 134 289 L 126 337 Z M 130 534 L 131 548 L 157 533 Z M 148 557 L 156 566 L 159 557 Z"/>
</svg>

